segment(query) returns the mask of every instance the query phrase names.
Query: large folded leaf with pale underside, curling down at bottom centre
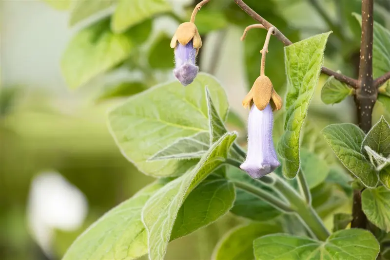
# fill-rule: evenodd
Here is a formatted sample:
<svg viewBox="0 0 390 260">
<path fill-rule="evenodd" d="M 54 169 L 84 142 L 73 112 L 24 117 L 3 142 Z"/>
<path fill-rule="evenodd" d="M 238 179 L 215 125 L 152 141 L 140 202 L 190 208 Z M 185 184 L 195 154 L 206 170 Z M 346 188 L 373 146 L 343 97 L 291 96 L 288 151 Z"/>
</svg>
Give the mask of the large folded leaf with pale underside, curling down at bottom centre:
<svg viewBox="0 0 390 260">
<path fill-rule="evenodd" d="M 142 210 L 142 222 L 148 231 L 149 259 L 164 258 L 182 202 L 197 185 L 224 162 L 235 138 L 234 133 L 226 133 L 214 143 L 195 168 L 161 188 L 146 203 Z M 213 196 L 213 193 L 210 195 Z M 225 198 L 219 199 L 224 201 Z M 227 202 L 229 203 L 233 204 L 233 201 Z M 213 221 L 225 214 L 218 208 L 212 207 L 209 210 L 208 214 Z M 196 225 L 196 223 L 192 224 Z"/>
</svg>

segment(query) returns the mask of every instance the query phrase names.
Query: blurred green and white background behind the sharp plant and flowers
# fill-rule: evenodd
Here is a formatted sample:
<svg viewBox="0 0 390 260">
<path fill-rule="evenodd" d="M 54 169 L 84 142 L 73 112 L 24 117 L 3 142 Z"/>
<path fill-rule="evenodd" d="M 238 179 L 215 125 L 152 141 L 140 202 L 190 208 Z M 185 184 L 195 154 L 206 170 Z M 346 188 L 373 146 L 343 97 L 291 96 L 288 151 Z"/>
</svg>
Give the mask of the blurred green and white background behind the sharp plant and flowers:
<svg viewBox="0 0 390 260">
<path fill-rule="evenodd" d="M 122 7 L 125 11 L 132 1 L 128 2 Z M 60 259 L 80 232 L 153 180 L 121 155 L 107 129 L 106 111 L 126 96 L 174 79 L 170 37 L 198 1 L 168 2 L 172 10 L 122 30 L 133 45 L 120 59 L 103 68 L 99 64 L 111 54 L 92 54 L 88 65 L 99 67 L 93 72 L 84 71 L 84 56 L 91 55 L 104 37 L 117 34 L 112 23 L 117 0 L 0 2 L 1 260 Z M 360 13 L 360 0 L 245 2 L 293 42 L 332 30 L 325 65 L 356 77 L 360 27 L 351 13 Z M 390 28 L 390 2 L 375 2 L 375 20 Z M 240 42 L 243 29 L 252 23 L 231 0 L 212 0 L 196 18 L 203 39 L 200 70 L 220 80 L 231 111 L 243 122 L 247 111 L 241 99 L 259 74 L 265 38 L 265 31 L 253 30 Z M 93 37 L 77 41 L 80 32 Z M 266 74 L 282 96 L 283 45 L 272 38 L 269 51 Z M 80 79 L 78 71 L 88 76 Z M 321 76 L 319 86 L 326 78 Z M 382 112 L 377 105 L 374 122 Z M 334 122 L 353 123 L 354 113 L 352 98 L 326 106 L 317 88 L 310 116 L 319 129 Z M 241 130 L 244 144 L 245 135 Z M 348 204 L 344 210 L 349 210 Z M 219 238 L 242 222 L 229 214 L 172 242 L 166 259 L 210 259 Z"/>
</svg>

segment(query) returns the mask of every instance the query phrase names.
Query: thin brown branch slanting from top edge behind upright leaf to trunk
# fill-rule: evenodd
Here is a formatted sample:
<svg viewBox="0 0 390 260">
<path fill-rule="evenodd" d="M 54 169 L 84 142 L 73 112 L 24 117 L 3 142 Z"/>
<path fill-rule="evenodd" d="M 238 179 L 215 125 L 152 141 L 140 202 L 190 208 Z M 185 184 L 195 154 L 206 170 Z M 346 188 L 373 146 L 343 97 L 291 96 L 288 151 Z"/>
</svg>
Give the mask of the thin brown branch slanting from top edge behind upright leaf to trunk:
<svg viewBox="0 0 390 260">
<path fill-rule="evenodd" d="M 256 21 L 258 21 L 260 24 L 264 25 L 264 27 L 268 30 L 270 29 L 271 27 L 274 28 L 274 32 L 273 32 L 273 35 L 278 39 L 280 40 L 281 42 L 283 42 L 283 44 L 285 46 L 288 46 L 288 45 L 291 45 L 292 44 L 292 41 L 289 40 L 286 36 L 284 36 L 284 34 L 282 34 L 275 26 L 272 25 L 272 23 L 270 23 L 269 21 L 267 21 L 266 19 L 262 18 L 259 14 L 257 14 L 251 7 L 249 7 L 243 0 L 234 0 L 234 2 L 243 10 L 245 11 L 249 16 L 251 16 L 253 19 L 255 19 Z M 350 77 L 347 77 L 343 74 L 340 74 L 340 73 L 337 73 L 335 71 L 332 71 L 328 68 L 325 68 L 325 67 L 322 67 L 322 73 L 324 74 L 327 74 L 327 75 L 330 75 L 330 76 L 334 76 L 335 79 L 341 81 L 341 82 L 344 82 L 348 85 L 350 85 L 351 87 L 353 88 L 357 88 L 357 80 L 356 79 L 353 79 L 353 78 L 350 78 Z"/>
</svg>

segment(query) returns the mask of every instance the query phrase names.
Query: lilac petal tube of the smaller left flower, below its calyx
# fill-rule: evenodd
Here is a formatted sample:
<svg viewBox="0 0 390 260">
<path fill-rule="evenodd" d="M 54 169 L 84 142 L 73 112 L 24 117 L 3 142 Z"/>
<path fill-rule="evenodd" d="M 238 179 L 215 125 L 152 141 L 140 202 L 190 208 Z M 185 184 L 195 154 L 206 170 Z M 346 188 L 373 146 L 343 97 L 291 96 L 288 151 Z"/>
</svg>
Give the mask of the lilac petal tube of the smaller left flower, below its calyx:
<svg viewBox="0 0 390 260">
<path fill-rule="evenodd" d="M 193 41 L 190 40 L 186 45 L 177 43 L 175 48 L 176 68 L 174 74 L 183 86 L 191 84 L 199 68 L 195 65 L 196 49 Z"/>
</svg>

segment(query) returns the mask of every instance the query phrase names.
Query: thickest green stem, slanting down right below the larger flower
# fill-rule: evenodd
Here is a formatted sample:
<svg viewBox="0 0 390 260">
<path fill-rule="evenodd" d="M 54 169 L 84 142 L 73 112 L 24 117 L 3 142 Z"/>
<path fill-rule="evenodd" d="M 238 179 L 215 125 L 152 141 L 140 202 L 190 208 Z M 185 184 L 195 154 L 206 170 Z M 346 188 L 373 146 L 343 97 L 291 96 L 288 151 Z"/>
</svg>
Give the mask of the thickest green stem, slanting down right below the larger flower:
<svg viewBox="0 0 390 260">
<path fill-rule="evenodd" d="M 330 236 L 328 229 L 312 206 L 302 200 L 301 196 L 282 178 L 276 175 L 273 187 L 291 204 L 299 219 L 316 238 L 325 241 Z"/>
</svg>

